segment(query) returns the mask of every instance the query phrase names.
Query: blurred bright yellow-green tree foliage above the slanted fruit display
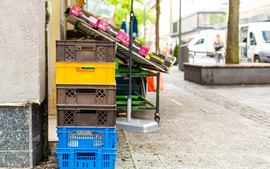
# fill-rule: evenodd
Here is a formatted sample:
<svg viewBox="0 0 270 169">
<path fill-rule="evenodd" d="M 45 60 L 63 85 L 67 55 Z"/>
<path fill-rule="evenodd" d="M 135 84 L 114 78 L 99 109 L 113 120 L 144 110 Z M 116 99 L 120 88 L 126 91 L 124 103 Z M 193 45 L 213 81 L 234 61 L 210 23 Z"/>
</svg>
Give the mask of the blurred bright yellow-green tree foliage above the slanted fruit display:
<svg viewBox="0 0 270 169">
<path fill-rule="evenodd" d="M 123 19 L 126 19 L 126 15 L 130 14 L 131 10 L 131 1 L 129 0 L 129 4 L 126 5 L 125 2 L 127 0 L 107 0 L 110 4 L 113 5 L 118 5 L 120 8 L 116 7 L 115 8 L 115 21 L 116 21 L 116 26 L 120 29 L 121 28 L 121 22 Z M 142 3 L 142 0 L 134 0 Z M 144 10 L 142 9 L 133 9 L 134 15 L 136 16 L 136 19 L 138 21 L 138 26 L 140 24 L 144 23 Z M 155 22 L 155 17 L 152 14 L 152 9 L 146 9 L 146 21 L 151 21 L 152 23 Z M 130 22 L 130 21 L 126 21 Z"/>
</svg>

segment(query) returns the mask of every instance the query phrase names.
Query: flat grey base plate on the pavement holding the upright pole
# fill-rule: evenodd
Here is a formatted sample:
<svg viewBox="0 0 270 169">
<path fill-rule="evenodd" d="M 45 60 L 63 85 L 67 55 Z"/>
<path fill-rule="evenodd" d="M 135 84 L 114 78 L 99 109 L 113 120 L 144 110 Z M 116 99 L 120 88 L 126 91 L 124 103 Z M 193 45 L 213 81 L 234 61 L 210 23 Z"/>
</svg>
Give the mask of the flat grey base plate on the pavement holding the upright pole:
<svg viewBox="0 0 270 169">
<path fill-rule="evenodd" d="M 149 132 L 158 129 L 158 123 L 156 121 L 132 119 L 130 122 L 126 121 L 126 117 L 116 118 L 116 128 L 139 131 L 139 132 Z"/>
</svg>

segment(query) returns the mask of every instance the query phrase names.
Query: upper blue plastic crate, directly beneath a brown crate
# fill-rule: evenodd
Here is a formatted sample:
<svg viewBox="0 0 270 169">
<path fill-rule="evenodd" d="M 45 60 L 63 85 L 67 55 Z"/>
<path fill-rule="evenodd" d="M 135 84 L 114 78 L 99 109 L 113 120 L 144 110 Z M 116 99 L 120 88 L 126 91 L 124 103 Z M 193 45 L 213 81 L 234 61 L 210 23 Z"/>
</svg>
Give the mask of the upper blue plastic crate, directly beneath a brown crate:
<svg viewBox="0 0 270 169">
<path fill-rule="evenodd" d="M 114 148 L 115 128 L 56 127 L 59 148 Z"/>
</svg>

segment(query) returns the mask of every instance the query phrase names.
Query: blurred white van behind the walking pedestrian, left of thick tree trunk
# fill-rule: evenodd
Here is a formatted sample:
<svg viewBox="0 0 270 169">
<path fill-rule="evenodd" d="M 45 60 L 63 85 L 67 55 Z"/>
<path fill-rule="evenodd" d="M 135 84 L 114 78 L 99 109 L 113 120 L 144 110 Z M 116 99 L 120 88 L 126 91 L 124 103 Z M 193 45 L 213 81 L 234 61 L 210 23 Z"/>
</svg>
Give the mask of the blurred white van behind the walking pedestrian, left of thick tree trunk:
<svg viewBox="0 0 270 169">
<path fill-rule="evenodd" d="M 201 30 L 200 33 L 189 42 L 187 46 L 189 51 L 195 52 L 195 55 L 213 56 L 214 55 L 214 40 L 216 34 L 220 34 L 220 39 L 225 44 L 225 30 Z M 225 51 L 224 51 L 225 52 Z"/>
</svg>

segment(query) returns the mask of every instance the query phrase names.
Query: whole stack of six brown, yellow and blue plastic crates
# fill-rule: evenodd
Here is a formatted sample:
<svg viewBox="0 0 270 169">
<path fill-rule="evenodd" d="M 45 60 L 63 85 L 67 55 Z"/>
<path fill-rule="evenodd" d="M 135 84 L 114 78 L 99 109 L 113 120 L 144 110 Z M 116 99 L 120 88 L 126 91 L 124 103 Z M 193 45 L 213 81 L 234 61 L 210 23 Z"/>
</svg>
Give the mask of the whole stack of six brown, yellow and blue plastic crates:
<svg viewBox="0 0 270 169">
<path fill-rule="evenodd" d="M 56 41 L 60 169 L 114 168 L 115 42 Z"/>
</svg>

